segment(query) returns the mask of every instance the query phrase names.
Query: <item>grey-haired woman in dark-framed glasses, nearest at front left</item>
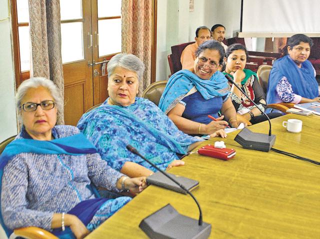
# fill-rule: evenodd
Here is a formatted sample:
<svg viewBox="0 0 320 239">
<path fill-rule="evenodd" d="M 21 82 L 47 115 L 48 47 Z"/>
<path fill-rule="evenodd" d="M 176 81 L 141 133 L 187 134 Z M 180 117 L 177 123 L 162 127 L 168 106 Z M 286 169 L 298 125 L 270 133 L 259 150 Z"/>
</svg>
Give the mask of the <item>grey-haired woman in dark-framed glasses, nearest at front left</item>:
<svg viewBox="0 0 320 239">
<path fill-rule="evenodd" d="M 82 238 L 130 200 L 98 198 L 91 183 L 115 192 L 145 187 L 144 177 L 109 167 L 76 127 L 55 125 L 62 102 L 45 78 L 25 80 L 17 89 L 23 126 L 0 157 L 0 222 L 7 235 L 37 226 L 60 238 Z"/>
</svg>

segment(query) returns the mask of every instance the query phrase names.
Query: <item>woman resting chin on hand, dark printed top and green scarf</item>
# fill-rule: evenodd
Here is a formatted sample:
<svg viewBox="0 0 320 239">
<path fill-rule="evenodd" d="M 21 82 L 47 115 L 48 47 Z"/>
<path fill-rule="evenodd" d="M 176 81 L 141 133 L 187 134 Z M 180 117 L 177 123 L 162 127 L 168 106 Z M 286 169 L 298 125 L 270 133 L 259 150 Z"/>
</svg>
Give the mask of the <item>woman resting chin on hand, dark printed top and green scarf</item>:
<svg viewBox="0 0 320 239">
<path fill-rule="evenodd" d="M 229 45 L 224 54 L 225 71 L 223 73 L 230 75 L 234 82 L 264 111 L 266 108 L 265 95 L 258 82 L 258 76 L 255 72 L 244 68 L 247 58 L 248 52 L 244 45 L 238 43 Z M 237 114 L 241 114 L 252 124 L 266 120 L 261 111 L 238 88 L 229 82 L 228 84 Z M 269 118 L 274 118 L 282 114 L 276 112 L 267 115 Z"/>
</svg>

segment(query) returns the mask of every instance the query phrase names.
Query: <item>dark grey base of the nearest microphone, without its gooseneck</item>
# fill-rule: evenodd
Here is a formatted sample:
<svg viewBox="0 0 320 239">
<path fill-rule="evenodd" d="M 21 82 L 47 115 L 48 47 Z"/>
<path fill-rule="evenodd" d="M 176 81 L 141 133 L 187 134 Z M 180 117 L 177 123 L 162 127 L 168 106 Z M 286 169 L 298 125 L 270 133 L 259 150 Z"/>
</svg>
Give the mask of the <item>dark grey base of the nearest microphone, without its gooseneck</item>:
<svg viewBox="0 0 320 239">
<path fill-rule="evenodd" d="M 170 204 L 145 217 L 139 227 L 150 238 L 208 238 L 211 224 L 179 214 Z"/>
</svg>

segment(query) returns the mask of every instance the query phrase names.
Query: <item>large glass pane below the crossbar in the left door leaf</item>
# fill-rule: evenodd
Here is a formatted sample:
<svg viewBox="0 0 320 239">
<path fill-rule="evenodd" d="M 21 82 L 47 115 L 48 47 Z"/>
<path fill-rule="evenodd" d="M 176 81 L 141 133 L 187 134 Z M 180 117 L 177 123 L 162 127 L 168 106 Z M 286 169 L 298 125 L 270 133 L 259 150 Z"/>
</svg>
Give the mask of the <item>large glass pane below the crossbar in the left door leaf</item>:
<svg viewBox="0 0 320 239">
<path fill-rule="evenodd" d="M 83 59 L 82 22 L 61 24 L 62 63 Z"/>
</svg>

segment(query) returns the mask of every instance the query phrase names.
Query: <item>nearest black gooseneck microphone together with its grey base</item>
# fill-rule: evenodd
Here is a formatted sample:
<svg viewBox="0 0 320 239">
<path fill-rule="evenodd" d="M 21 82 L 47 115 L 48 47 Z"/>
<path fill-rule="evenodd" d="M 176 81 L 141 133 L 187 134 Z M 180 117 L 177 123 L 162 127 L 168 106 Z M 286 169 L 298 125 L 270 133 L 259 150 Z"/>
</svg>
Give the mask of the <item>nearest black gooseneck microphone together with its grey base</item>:
<svg viewBox="0 0 320 239">
<path fill-rule="evenodd" d="M 132 153 L 141 157 L 143 160 L 147 161 L 150 165 L 152 165 L 154 168 L 156 168 L 159 172 L 161 172 L 163 175 L 168 177 L 170 180 L 172 180 L 177 185 L 179 185 L 183 190 L 185 190 L 185 192 L 188 193 L 193 198 L 193 200 L 195 201 L 195 203 L 199 209 L 199 219 L 198 219 L 197 226 L 194 226 L 194 219 L 178 214 L 178 212 L 170 204 L 167 204 L 166 206 L 160 208 L 155 213 L 144 218 L 140 222 L 139 227 L 150 238 L 207 238 L 210 234 L 210 231 L 211 231 L 211 224 L 208 224 L 208 223 L 205 223 L 202 221 L 201 207 L 200 207 L 200 204 L 197 201 L 197 199 L 193 196 L 193 194 L 188 189 L 186 189 L 181 183 L 179 183 L 177 180 L 172 178 L 168 173 L 161 170 L 154 163 L 152 163 L 150 160 L 148 160 L 144 156 L 142 156 L 136 150 L 136 148 L 134 148 L 130 144 L 127 144 L 126 148 L 129 151 L 131 151 Z M 172 216 L 169 215 L 169 217 L 172 217 L 172 218 L 169 221 L 163 222 L 163 225 L 164 225 L 163 227 L 159 226 L 159 224 L 158 224 L 160 222 L 159 220 L 161 220 L 161 219 L 163 219 L 163 217 L 167 216 L 168 213 L 171 213 L 172 210 L 174 210 L 173 212 L 175 214 L 174 215 L 175 218 L 173 218 Z M 153 218 L 151 218 L 151 217 L 153 217 Z M 168 224 L 170 224 L 170 227 L 172 227 L 172 225 L 174 224 L 174 227 L 175 227 L 174 231 L 169 230 L 167 228 Z M 177 230 L 180 230 L 180 232 L 177 232 Z"/>
</svg>

